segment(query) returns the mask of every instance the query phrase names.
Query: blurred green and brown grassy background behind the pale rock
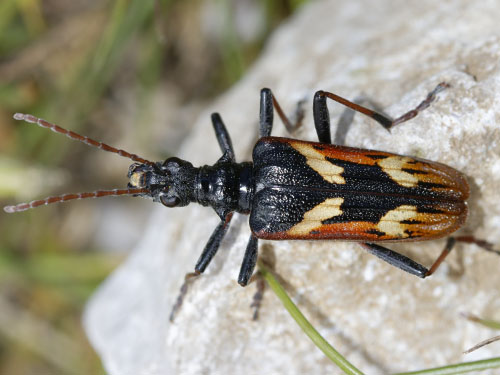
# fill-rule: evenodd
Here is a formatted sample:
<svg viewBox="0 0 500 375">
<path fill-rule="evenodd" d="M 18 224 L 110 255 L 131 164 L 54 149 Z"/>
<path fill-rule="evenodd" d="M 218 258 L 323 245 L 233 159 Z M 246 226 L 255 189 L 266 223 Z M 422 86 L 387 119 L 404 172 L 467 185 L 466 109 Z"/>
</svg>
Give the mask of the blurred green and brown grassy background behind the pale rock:
<svg viewBox="0 0 500 375">
<path fill-rule="evenodd" d="M 13 113 L 165 159 L 305 2 L 1 0 L 0 204 L 123 188 L 131 163 Z M 104 374 L 81 310 L 133 248 L 152 204 L 123 197 L 0 213 L 0 374 Z"/>
</svg>

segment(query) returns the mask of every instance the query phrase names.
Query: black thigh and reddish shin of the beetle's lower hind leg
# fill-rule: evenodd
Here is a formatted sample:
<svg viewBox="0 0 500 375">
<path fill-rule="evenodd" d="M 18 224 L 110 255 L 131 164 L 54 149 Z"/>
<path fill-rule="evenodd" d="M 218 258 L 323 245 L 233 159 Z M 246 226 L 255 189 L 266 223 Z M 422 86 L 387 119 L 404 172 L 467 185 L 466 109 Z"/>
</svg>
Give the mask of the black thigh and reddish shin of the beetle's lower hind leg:
<svg viewBox="0 0 500 375">
<path fill-rule="evenodd" d="M 362 243 L 361 246 L 363 246 L 363 248 L 365 248 L 369 253 L 379 257 L 380 259 L 386 261 L 390 265 L 424 279 L 427 276 L 432 275 L 438 269 L 441 263 L 443 263 L 443 260 L 448 256 L 448 254 L 453 249 L 455 242 L 456 240 L 453 237 L 448 238 L 448 241 L 446 242 L 446 246 L 444 247 L 443 251 L 429 269 L 422 266 L 420 263 L 415 262 L 413 259 L 410 259 L 407 256 L 399 254 L 383 246 L 376 245 L 373 243 Z"/>
</svg>

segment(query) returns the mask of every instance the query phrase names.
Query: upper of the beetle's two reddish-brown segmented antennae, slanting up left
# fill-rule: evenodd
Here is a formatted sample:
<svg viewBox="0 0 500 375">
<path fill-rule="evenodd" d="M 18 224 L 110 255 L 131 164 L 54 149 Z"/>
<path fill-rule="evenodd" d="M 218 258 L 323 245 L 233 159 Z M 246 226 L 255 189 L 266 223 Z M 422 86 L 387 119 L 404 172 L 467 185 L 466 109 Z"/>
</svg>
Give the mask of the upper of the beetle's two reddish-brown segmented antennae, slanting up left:
<svg viewBox="0 0 500 375">
<path fill-rule="evenodd" d="M 102 143 L 102 142 L 96 141 L 96 140 L 91 139 L 91 138 L 89 138 L 87 136 L 75 133 L 75 132 L 73 132 L 71 130 L 67 130 L 67 129 L 61 128 L 58 125 L 52 124 L 52 123 L 50 123 L 48 121 L 45 121 L 45 120 L 43 120 L 41 118 L 38 118 L 38 117 L 35 117 L 33 115 L 28 115 L 28 114 L 24 114 L 24 113 L 16 113 L 14 115 L 14 119 L 15 120 L 23 120 L 23 121 L 29 122 L 31 124 L 37 124 L 38 126 L 41 126 L 42 128 L 50 129 L 50 130 L 52 130 L 55 133 L 64 134 L 66 137 L 71 138 L 71 139 L 73 139 L 75 141 L 83 142 L 87 146 L 97 147 L 98 149 L 101 149 L 101 150 L 104 150 L 104 151 L 108 151 L 108 152 L 112 152 L 114 154 L 118 154 L 118 155 L 123 156 L 125 158 L 132 159 L 133 161 L 137 161 L 139 163 L 149 164 L 149 165 L 153 165 L 153 166 L 155 165 L 155 163 L 153 163 L 152 161 L 149 161 L 147 159 L 141 158 L 138 155 L 131 154 L 131 153 L 125 151 L 125 150 L 121 150 L 121 149 L 118 149 L 118 148 L 111 147 L 110 145 L 107 145 L 106 143 Z"/>
</svg>

